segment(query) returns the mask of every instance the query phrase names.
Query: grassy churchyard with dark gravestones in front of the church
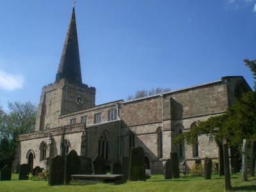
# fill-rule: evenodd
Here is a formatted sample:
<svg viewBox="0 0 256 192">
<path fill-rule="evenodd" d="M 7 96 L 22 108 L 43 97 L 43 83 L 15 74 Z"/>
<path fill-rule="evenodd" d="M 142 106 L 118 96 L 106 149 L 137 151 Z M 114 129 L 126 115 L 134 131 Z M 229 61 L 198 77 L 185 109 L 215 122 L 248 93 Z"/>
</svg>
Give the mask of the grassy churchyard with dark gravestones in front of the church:
<svg viewBox="0 0 256 192">
<path fill-rule="evenodd" d="M 163 174 L 151 175 L 141 147 L 132 147 L 130 157 L 112 163 L 110 170 L 100 155 L 92 161 L 71 150 L 64 158 L 51 157 L 49 170 L 36 166 L 30 173 L 28 164 L 21 164 L 17 174 L 4 166 L 0 191 L 256 191 L 256 178 L 247 173 L 246 164 L 242 173 L 230 173 L 226 145 L 223 141 L 225 176 L 218 174 L 220 167 L 212 166 L 207 157 L 198 166 L 204 173 L 196 175 L 187 172 L 186 165 L 183 172 L 184 164 L 180 165 L 177 153 L 172 152 Z"/>
</svg>

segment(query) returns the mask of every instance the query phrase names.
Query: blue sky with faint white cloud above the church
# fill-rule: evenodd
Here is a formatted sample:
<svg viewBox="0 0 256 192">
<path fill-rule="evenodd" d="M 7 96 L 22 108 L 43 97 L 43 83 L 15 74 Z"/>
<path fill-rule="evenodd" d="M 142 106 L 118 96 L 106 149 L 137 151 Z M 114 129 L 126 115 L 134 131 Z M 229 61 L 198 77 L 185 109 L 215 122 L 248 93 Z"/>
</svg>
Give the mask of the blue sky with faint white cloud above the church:
<svg viewBox="0 0 256 192">
<path fill-rule="evenodd" d="M 0 105 L 38 104 L 53 83 L 71 0 L 1 0 Z M 83 83 L 96 102 L 137 90 L 184 88 L 244 76 L 256 58 L 256 0 L 77 0 Z"/>
</svg>

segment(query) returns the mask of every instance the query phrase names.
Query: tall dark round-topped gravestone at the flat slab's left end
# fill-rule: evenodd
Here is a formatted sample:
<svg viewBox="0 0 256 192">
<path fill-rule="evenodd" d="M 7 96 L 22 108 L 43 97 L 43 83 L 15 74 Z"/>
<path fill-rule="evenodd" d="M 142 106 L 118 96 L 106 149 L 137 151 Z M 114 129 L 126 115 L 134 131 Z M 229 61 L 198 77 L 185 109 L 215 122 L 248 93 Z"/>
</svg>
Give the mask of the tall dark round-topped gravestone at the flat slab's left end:
<svg viewBox="0 0 256 192">
<path fill-rule="evenodd" d="M 65 166 L 64 166 L 64 184 L 68 184 L 71 180 L 71 175 L 76 175 L 79 173 L 79 157 L 77 156 L 76 150 L 70 150 L 70 152 L 65 156 Z"/>
</svg>

